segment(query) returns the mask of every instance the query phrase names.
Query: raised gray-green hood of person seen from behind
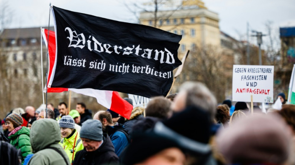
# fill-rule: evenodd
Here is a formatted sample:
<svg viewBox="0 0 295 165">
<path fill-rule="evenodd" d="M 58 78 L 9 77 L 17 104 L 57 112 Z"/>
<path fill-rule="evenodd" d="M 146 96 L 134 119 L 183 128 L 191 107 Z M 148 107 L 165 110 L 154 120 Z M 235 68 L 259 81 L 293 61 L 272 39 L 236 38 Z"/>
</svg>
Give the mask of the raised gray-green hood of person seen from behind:
<svg viewBox="0 0 295 165">
<path fill-rule="evenodd" d="M 57 121 L 54 119 L 35 121 L 31 127 L 30 140 L 34 153 L 49 145 L 58 144 L 61 141 L 61 132 Z"/>
</svg>

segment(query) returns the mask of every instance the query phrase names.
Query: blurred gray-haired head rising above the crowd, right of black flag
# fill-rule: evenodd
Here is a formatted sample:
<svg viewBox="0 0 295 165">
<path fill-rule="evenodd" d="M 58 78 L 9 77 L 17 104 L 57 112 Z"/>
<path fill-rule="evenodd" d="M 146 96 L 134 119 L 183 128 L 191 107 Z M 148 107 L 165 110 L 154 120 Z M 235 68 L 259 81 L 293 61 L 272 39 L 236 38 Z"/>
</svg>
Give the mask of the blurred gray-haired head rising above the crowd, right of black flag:
<svg viewBox="0 0 295 165">
<path fill-rule="evenodd" d="M 217 101 L 211 91 L 200 82 L 187 81 L 180 88 L 174 98 L 171 108 L 174 112 L 183 111 L 187 106 L 197 106 L 208 111 L 211 120 L 214 120 Z"/>
</svg>

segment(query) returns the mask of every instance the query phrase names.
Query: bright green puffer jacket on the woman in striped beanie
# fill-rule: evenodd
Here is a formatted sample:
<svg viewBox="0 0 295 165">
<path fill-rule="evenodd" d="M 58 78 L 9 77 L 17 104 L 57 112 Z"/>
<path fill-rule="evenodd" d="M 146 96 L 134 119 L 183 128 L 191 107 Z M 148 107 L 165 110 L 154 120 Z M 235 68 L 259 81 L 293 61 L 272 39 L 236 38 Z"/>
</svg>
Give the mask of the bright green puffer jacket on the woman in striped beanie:
<svg viewBox="0 0 295 165">
<path fill-rule="evenodd" d="M 11 140 L 11 145 L 14 145 L 16 149 L 21 150 L 21 161 L 23 164 L 25 157 L 28 154 L 33 154 L 30 142 L 30 129 L 27 127 L 21 127 L 20 130 L 18 130 L 15 134 L 10 135 L 8 138 Z"/>
</svg>

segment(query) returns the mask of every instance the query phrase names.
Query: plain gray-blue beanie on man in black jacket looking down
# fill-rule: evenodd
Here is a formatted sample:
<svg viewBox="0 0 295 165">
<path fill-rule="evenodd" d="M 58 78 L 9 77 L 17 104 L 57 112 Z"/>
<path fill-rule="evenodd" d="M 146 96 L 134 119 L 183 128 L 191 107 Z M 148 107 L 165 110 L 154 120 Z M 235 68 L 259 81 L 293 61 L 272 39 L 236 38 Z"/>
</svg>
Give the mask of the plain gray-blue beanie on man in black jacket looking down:
<svg viewBox="0 0 295 165">
<path fill-rule="evenodd" d="M 94 141 L 102 141 L 102 123 L 99 120 L 86 120 L 82 124 L 80 137 Z"/>
</svg>

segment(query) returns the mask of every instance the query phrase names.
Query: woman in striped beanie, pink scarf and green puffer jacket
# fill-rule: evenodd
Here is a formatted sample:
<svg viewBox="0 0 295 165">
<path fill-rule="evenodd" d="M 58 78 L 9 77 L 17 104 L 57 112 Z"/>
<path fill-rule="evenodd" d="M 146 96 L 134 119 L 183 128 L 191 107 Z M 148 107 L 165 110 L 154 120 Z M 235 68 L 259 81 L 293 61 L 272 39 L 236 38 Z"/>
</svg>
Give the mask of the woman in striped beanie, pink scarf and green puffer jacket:
<svg viewBox="0 0 295 165">
<path fill-rule="evenodd" d="M 10 144 L 14 145 L 16 149 L 21 150 L 21 161 L 24 163 L 25 157 L 32 154 L 30 142 L 30 129 L 22 127 L 23 118 L 20 114 L 11 113 L 6 117 L 5 125 L 10 132 L 8 138 L 11 140 Z"/>
</svg>

